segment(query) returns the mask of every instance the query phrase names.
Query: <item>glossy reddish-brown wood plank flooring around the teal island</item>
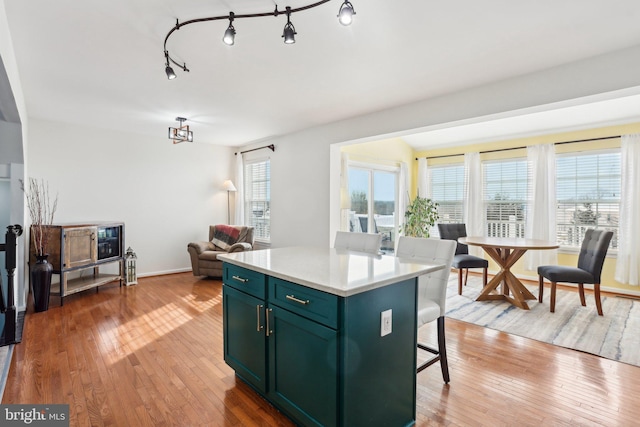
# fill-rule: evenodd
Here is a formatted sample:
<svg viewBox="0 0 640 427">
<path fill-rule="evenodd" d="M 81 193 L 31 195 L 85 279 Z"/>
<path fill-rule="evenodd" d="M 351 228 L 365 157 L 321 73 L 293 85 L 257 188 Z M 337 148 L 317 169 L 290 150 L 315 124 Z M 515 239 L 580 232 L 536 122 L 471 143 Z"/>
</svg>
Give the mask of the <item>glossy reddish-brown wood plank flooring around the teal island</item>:
<svg viewBox="0 0 640 427">
<path fill-rule="evenodd" d="M 293 425 L 224 363 L 221 299 L 220 281 L 184 273 L 29 307 L 2 403 L 68 403 L 71 426 Z M 438 364 L 418 375 L 418 426 L 640 420 L 640 368 L 451 319 L 446 330 L 451 383 Z"/>
</svg>

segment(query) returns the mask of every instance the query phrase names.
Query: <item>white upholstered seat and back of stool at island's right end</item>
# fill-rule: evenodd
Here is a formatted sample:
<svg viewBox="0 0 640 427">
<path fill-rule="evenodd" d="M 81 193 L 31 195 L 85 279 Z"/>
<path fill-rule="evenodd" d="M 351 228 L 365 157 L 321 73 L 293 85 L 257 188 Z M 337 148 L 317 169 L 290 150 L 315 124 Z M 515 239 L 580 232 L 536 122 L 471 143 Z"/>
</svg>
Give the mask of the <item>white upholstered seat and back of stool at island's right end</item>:
<svg viewBox="0 0 640 427">
<path fill-rule="evenodd" d="M 452 240 L 424 239 L 401 236 L 396 248 L 398 258 L 413 262 L 429 262 L 444 264 L 445 268 L 418 278 L 418 313 L 429 305 L 437 304 L 439 315 L 445 314 L 447 299 L 447 283 L 451 273 L 451 262 L 456 251 L 456 243 Z M 437 318 L 438 316 L 436 316 Z M 418 316 L 418 326 L 434 319 Z"/>
</svg>

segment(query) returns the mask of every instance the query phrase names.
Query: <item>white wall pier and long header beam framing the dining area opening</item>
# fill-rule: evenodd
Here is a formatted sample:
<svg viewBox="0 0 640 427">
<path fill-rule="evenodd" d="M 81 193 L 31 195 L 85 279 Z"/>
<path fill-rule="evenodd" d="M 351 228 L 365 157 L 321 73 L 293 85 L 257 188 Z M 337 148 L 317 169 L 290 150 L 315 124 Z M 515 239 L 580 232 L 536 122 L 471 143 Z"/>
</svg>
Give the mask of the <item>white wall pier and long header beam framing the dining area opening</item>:
<svg viewBox="0 0 640 427">
<path fill-rule="evenodd" d="M 276 146 L 271 160 L 271 246 L 331 243 L 331 236 L 340 223 L 340 159 L 339 150 L 332 144 L 391 138 L 487 117 L 506 117 L 586 100 L 638 94 L 639 69 L 640 46 L 635 46 L 261 141 L 259 145 Z"/>
</svg>

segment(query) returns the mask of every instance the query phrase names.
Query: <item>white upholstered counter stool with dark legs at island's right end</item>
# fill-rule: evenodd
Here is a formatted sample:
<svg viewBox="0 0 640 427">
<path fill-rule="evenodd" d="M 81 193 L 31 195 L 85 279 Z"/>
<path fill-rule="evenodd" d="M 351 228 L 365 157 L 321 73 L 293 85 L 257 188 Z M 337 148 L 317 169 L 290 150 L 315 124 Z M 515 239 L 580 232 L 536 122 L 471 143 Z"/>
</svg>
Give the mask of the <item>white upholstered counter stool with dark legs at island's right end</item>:
<svg viewBox="0 0 640 427">
<path fill-rule="evenodd" d="M 435 262 L 444 264 L 445 268 L 418 277 L 418 323 L 417 327 L 437 320 L 438 348 L 434 349 L 425 344 L 418 343 L 418 348 L 426 350 L 434 356 L 417 366 L 420 372 L 440 361 L 442 378 L 449 382 L 449 364 L 447 362 L 447 347 L 444 333 L 445 303 L 447 300 L 447 283 L 451 262 L 456 251 L 456 245 L 450 240 L 424 239 L 417 237 L 400 236 L 396 257 L 410 259 L 411 261 Z M 417 351 L 417 350 L 416 350 Z"/>
</svg>

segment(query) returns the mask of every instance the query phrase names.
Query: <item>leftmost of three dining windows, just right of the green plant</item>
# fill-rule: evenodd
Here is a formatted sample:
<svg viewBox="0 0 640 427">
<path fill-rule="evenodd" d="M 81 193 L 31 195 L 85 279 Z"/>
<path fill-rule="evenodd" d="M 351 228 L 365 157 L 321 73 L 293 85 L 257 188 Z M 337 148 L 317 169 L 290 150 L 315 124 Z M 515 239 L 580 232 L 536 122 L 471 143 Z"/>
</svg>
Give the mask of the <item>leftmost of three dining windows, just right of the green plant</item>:
<svg viewBox="0 0 640 427">
<path fill-rule="evenodd" d="M 464 222 L 464 165 L 433 166 L 428 170 L 431 199 L 438 203 L 438 222 Z M 437 227 L 431 230 L 431 236 L 439 237 Z"/>
</svg>

